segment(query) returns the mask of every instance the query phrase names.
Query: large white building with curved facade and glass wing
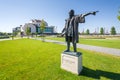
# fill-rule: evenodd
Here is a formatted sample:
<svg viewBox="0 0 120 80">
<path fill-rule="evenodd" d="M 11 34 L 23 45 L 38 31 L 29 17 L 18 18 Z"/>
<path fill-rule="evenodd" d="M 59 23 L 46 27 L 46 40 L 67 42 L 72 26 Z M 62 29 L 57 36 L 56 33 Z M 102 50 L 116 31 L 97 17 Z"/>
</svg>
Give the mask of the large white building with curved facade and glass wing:
<svg viewBox="0 0 120 80">
<path fill-rule="evenodd" d="M 13 33 L 15 35 L 26 35 L 26 29 L 27 27 L 30 28 L 30 33 L 31 34 L 41 34 L 41 30 L 40 30 L 40 25 L 41 25 L 41 21 L 42 20 L 38 20 L 38 19 L 32 19 L 30 20 L 30 22 L 25 23 L 24 25 L 20 25 L 19 27 L 13 28 Z M 48 23 L 46 21 L 45 22 L 45 30 L 44 30 L 44 34 L 56 34 L 55 31 L 55 26 L 48 26 Z"/>
</svg>

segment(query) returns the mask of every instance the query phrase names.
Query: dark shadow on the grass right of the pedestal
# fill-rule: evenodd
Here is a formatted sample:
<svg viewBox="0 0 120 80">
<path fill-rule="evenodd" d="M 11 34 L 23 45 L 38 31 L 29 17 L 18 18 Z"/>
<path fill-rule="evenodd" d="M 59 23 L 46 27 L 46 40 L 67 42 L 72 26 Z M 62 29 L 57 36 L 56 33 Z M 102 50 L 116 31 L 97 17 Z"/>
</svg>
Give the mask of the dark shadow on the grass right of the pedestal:
<svg viewBox="0 0 120 80">
<path fill-rule="evenodd" d="M 100 77 L 103 76 L 112 80 L 120 80 L 120 74 L 118 73 L 107 72 L 102 70 L 92 70 L 87 67 L 83 67 L 83 70 L 80 75 L 91 77 L 94 79 L 100 79 Z"/>
</svg>

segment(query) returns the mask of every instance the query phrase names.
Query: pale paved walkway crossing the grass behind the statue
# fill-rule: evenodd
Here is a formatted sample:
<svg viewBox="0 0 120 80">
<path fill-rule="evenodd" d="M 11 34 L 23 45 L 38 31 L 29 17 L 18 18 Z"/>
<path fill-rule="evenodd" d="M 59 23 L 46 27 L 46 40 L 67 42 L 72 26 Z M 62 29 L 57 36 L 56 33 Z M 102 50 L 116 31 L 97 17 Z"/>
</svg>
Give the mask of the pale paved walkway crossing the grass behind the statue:
<svg viewBox="0 0 120 80">
<path fill-rule="evenodd" d="M 41 40 L 41 39 L 37 39 L 37 40 Z M 56 44 L 61 44 L 61 45 L 66 45 L 66 43 L 62 41 L 56 41 L 56 40 L 45 40 L 45 41 L 56 43 Z M 91 45 L 85 45 L 85 44 L 77 44 L 77 48 L 120 56 L 120 49 L 115 49 L 115 48 L 91 46 Z"/>
</svg>

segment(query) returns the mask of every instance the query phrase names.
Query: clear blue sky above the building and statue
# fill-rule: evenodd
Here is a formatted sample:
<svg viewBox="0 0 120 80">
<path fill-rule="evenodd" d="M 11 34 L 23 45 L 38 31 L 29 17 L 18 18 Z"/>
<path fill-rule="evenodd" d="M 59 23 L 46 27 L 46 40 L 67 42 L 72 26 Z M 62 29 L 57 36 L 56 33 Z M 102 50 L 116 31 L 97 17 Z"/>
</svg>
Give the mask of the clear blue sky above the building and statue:
<svg viewBox="0 0 120 80">
<path fill-rule="evenodd" d="M 61 32 L 68 12 L 75 14 L 99 11 L 89 15 L 85 23 L 79 24 L 79 32 L 89 29 L 99 31 L 101 27 L 109 32 L 111 27 L 120 33 L 120 21 L 117 19 L 120 0 L 0 0 L 0 32 L 12 32 L 12 28 L 24 25 L 31 19 L 44 19 L 49 26 L 56 26 Z"/>
</svg>

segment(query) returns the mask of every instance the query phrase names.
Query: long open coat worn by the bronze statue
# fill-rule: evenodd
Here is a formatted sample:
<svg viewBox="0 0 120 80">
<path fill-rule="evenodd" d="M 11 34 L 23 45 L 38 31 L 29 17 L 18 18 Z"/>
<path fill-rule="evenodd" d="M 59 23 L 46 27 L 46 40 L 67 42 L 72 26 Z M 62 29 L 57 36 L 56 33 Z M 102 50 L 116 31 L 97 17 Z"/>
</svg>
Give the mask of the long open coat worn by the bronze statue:
<svg viewBox="0 0 120 80">
<path fill-rule="evenodd" d="M 79 33 L 78 26 L 79 23 L 84 23 L 85 17 L 82 15 L 73 16 L 72 19 L 67 19 L 65 23 L 65 28 L 62 32 L 65 31 L 66 41 L 70 39 L 70 42 L 78 43 L 79 42 Z"/>
</svg>

